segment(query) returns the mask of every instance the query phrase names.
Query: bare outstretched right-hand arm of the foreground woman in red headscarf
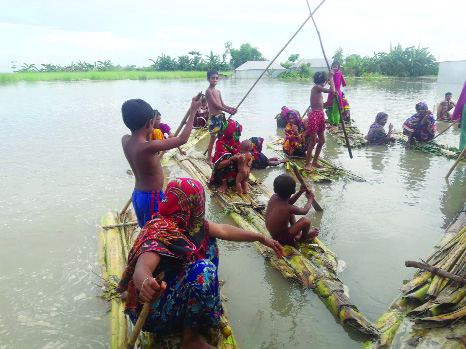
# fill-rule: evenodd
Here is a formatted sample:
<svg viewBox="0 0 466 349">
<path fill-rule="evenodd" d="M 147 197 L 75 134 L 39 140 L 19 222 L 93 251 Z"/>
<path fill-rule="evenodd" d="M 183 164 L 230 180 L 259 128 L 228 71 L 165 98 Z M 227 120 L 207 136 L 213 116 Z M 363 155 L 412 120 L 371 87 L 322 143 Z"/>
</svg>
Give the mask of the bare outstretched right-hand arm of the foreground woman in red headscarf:
<svg viewBox="0 0 466 349">
<path fill-rule="evenodd" d="M 228 241 L 258 241 L 275 251 L 278 258 L 283 257 L 283 247 L 277 241 L 262 234 L 240 229 L 229 224 L 209 222 L 209 236 Z"/>
</svg>

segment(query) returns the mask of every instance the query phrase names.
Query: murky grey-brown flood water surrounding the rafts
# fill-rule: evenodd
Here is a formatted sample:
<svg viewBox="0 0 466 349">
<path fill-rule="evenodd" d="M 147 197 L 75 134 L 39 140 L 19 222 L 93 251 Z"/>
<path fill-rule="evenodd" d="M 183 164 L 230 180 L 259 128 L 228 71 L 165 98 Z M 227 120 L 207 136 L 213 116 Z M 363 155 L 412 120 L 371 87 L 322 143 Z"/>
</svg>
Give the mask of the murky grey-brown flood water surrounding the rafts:
<svg viewBox="0 0 466 349">
<path fill-rule="evenodd" d="M 253 82 L 221 80 L 218 88 L 225 103 L 236 106 Z M 176 129 L 190 98 L 206 87 L 205 80 L 0 85 L 0 348 L 108 347 L 107 307 L 97 298 L 97 224 L 105 212 L 123 208 L 134 185 L 120 143 L 127 133 L 121 104 L 142 98 Z M 311 87 L 259 82 L 236 116 L 243 137 L 281 135 L 273 117 L 283 105 L 304 111 Z M 353 79 L 345 93 L 365 133 L 379 111 L 400 129 L 417 102 L 432 109 L 447 91 L 456 100 L 461 87 L 433 79 Z M 459 130 L 438 139 L 458 147 Z M 446 181 L 453 160 L 401 145 L 354 149 L 353 155 L 327 138 L 322 156 L 366 181 L 314 185 L 324 212 L 308 216 L 346 262 L 339 277 L 374 322 L 413 275 L 404 261 L 426 257 L 463 206 L 466 166 Z M 168 172 L 185 175 L 176 167 Z M 270 191 L 281 173 L 282 167 L 254 171 Z M 229 222 L 214 200 L 207 209 L 209 219 Z M 241 348 L 362 346 L 364 337 L 340 325 L 312 291 L 285 280 L 252 244 L 220 248 L 226 308 Z"/>
</svg>

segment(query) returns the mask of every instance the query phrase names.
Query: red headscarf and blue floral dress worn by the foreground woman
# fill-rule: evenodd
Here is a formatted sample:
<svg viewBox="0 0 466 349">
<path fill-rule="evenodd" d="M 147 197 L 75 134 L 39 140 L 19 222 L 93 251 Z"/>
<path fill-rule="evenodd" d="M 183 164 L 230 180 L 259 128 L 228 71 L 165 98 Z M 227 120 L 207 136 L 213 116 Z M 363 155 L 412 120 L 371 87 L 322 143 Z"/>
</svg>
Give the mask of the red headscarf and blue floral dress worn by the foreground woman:
<svg viewBox="0 0 466 349">
<path fill-rule="evenodd" d="M 216 240 L 208 235 L 201 184 L 189 178 L 170 182 L 159 213 L 139 233 L 118 285 L 119 292 L 128 291 L 125 312 L 137 319 L 142 303 L 133 281 L 135 266 L 143 253 L 156 252 L 162 258 L 153 275 L 165 272 L 167 289 L 152 305 L 144 329 L 217 325 L 221 315 L 218 250 Z"/>
</svg>

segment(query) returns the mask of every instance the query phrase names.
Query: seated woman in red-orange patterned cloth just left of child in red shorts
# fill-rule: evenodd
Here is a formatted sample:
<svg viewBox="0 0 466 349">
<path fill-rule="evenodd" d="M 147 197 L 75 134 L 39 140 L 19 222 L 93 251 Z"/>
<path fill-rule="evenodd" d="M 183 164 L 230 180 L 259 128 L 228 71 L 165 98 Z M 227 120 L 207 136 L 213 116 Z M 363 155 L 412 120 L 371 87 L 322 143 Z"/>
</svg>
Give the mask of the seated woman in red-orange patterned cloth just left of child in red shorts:
<svg viewBox="0 0 466 349">
<path fill-rule="evenodd" d="M 283 152 L 288 156 L 302 156 L 306 152 L 306 133 L 303 120 L 299 114 L 290 110 L 287 114 L 288 125 L 285 128 Z"/>
</svg>

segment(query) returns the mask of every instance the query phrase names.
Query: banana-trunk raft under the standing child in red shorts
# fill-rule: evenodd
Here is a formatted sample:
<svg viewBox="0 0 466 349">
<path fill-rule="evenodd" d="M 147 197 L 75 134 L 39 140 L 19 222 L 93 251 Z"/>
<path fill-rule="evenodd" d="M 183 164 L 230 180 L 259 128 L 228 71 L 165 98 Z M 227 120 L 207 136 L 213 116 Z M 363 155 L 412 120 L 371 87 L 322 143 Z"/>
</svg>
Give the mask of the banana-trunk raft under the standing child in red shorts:
<svg viewBox="0 0 466 349">
<path fill-rule="evenodd" d="M 283 152 L 283 139 L 277 137 L 271 137 L 270 141 L 267 143 L 267 147 L 275 151 L 279 157 L 282 159 L 289 158 L 290 162 L 286 163 L 284 167 L 288 170 L 293 172 L 292 164 L 294 163 L 297 167 L 301 175 L 304 179 L 308 182 L 317 182 L 317 183 L 328 183 L 334 180 L 340 180 L 344 178 L 348 178 L 357 182 L 364 182 L 362 177 L 359 177 L 349 171 L 346 171 L 342 168 L 336 167 L 330 162 L 319 158 L 319 164 L 324 166 L 323 168 L 314 168 L 313 171 L 306 171 L 304 170 L 304 165 L 306 163 L 305 157 L 298 157 L 298 156 L 291 156 L 288 157 Z"/>
</svg>

